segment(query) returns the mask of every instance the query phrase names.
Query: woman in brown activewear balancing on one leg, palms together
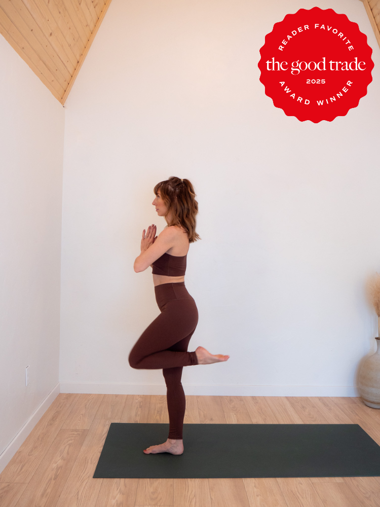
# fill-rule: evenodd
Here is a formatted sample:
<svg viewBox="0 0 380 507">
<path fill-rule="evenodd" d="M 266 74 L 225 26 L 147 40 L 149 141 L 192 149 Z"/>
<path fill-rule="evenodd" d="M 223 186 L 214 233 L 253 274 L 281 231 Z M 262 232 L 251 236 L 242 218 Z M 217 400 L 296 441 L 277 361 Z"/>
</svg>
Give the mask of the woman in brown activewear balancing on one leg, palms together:
<svg viewBox="0 0 380 507">
<path fill-rule="evenodd" d="M 146 328 L 129 354 L 132 368 L 163 370 L 169 412 L 169 437 L 161 445 L 144 449 L 145 454 L 183 453 L 182 428 L 185 395 L 182 368 L 226 361 L 228 355 L 213 355 L 205 348 L 187 352 L 198 323 L 198 310 L 184 283 L 189 243 L 200 239 L 196 233 L 198 202 L 188 179 L 171 176 L 155 187 L 153 205 L 164 216 L 167 227 L 156 236 L 156 226 L 142 231 L 141 253 L 134 270 L 153 267 L 153 282 L 160 315 Z"/>
</svg>

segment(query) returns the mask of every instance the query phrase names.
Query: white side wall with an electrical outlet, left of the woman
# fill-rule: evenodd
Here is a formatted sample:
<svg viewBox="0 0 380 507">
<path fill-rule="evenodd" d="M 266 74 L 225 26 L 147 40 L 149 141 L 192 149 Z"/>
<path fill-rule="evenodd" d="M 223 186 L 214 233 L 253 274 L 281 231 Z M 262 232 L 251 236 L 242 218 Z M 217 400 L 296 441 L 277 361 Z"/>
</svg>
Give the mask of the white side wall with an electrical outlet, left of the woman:
<svg viewBox="0 0 380 507">
<path fill-rule="evenodd" d="M 0 37 L 0 454 L 58 382 L 63 135 L 63 107 Z"/>
</svg>

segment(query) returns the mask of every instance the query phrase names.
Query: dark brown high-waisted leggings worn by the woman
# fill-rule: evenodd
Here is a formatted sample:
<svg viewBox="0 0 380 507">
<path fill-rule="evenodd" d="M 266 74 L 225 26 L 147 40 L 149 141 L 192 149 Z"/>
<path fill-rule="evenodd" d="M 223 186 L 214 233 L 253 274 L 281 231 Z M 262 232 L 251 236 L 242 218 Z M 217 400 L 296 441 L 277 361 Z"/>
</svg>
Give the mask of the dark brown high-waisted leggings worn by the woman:
<svg viewBox="0 0 380 507">
<path fill-rule="evenodd" d="M 182 439 L 185 394 L 182 368 L 197 365 L 195 352 L 187 352 L 198 323 L 198 310 L 184 282 L 155 287 L 160 315 L 146 328 L 129 354 L 132 368 L 162 369 L 169 412 L 169 439 Z"/>
</svg>

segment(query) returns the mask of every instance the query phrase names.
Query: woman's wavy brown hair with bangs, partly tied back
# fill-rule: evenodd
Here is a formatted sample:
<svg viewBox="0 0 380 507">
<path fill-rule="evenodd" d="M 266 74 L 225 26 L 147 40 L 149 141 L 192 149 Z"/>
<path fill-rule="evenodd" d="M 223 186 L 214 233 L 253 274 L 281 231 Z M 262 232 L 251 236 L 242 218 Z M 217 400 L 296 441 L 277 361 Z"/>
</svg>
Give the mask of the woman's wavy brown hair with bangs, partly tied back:
<svg viewBox="0 0 380 507">
<path fill-rule="evenodd" d="M 164 200 L 168 213 L 172 215 L 172 220 L 168 226 L 178 225 L 185 229 L 189 243 L 194 243 L 201 239 L 196 233 L 196 215 L 198 213 L 198 202 L 195 197 L 194 187 L 188 179 L 180 179 L 176 176 L 170 176 L 164 182 L 160 182 L 155 187 L 155 194 L 160 192 Z"/>
</svg>

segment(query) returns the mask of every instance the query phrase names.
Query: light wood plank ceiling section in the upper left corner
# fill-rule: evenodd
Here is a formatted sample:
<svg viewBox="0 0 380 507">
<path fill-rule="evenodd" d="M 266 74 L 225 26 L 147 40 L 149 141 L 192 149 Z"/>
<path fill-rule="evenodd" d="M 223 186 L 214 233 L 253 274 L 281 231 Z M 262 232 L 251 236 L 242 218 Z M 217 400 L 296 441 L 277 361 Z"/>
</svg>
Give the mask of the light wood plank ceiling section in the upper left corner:
<svg viewBox="0 0 380 507">
<path fill-rule="evenodd" d="M 0 0 L 0 33 L 64 104 L 111 0 Z"/>
</svg>

